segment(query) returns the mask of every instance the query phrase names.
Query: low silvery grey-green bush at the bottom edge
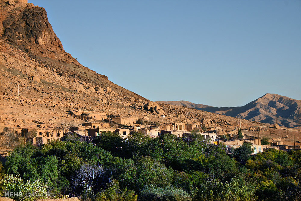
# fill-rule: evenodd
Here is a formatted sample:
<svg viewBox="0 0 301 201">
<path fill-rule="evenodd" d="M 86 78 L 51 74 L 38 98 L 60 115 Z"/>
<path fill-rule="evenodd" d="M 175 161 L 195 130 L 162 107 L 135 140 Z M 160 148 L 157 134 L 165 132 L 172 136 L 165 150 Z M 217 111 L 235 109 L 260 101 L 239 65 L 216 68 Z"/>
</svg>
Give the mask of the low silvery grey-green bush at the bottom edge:
<svg viewBox="0 0 301 201">
<path fill-rule="evenodd" d="M 156 188 L 153 185 L 144 186 L 143 190 L 140 192 L 141 200 L 158 200 L 158 201 L 167 201 L 167 200 L 175 200 L 175 201 L 186 201 L 191 200 L 190 195 L 184 191 L 180 190 L 173 186 L 168 186 L 165 188 Z"/>
</svg>

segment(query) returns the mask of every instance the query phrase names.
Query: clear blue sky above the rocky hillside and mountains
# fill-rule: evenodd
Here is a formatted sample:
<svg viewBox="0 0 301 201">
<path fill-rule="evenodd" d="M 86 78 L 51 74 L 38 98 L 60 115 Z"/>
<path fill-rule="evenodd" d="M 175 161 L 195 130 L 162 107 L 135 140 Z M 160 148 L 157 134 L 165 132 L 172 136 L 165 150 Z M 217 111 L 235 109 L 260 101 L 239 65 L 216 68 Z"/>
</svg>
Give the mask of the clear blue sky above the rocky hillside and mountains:
<svg viewBox="0 0 301 201">
<path fill-rule="evenodd" d="M 46 1 L 64 49 L 152 101 L 301 99 L 301 1 Z"/>
</svg>

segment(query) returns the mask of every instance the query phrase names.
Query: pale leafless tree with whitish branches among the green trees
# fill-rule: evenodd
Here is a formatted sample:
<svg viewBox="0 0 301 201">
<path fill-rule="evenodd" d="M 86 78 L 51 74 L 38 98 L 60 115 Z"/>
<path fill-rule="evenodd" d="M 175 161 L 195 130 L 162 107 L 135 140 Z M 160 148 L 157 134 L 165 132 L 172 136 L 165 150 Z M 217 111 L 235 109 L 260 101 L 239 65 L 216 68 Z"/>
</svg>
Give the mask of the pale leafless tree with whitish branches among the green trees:
<svg viewBox="0 0 301 201">
<path fill-rule="evenodd" d="M 101 165 L 85 163 L 72 177 L 72 183 L 75 187 L 81 186 L 84 189 L 84 196 L 87 199 L 87 196 L 92 193 L 92 188 L 104 172 L 105 170 Z"/>
</svg>

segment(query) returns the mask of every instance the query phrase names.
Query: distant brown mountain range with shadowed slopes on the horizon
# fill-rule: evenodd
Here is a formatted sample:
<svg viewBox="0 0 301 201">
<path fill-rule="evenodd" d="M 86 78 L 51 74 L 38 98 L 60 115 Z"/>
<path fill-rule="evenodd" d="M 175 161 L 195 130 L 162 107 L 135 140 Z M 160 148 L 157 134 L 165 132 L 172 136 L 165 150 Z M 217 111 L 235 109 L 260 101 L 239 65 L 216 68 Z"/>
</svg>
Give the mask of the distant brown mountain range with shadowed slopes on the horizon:
<svg viewBox="0 0 301 201">
<path fill-rule="evenodd" d="M 278 94 L 267 93 L 264 96 L 239 107 L 212 107 L 188 101 L 157 101 L 171 105 L 215 112 L 221 115 L 239 117 L 262 123 L 278 124 L 286 127 L 301 127 L 301 100 L 291 99 Z"/>
</svg>

